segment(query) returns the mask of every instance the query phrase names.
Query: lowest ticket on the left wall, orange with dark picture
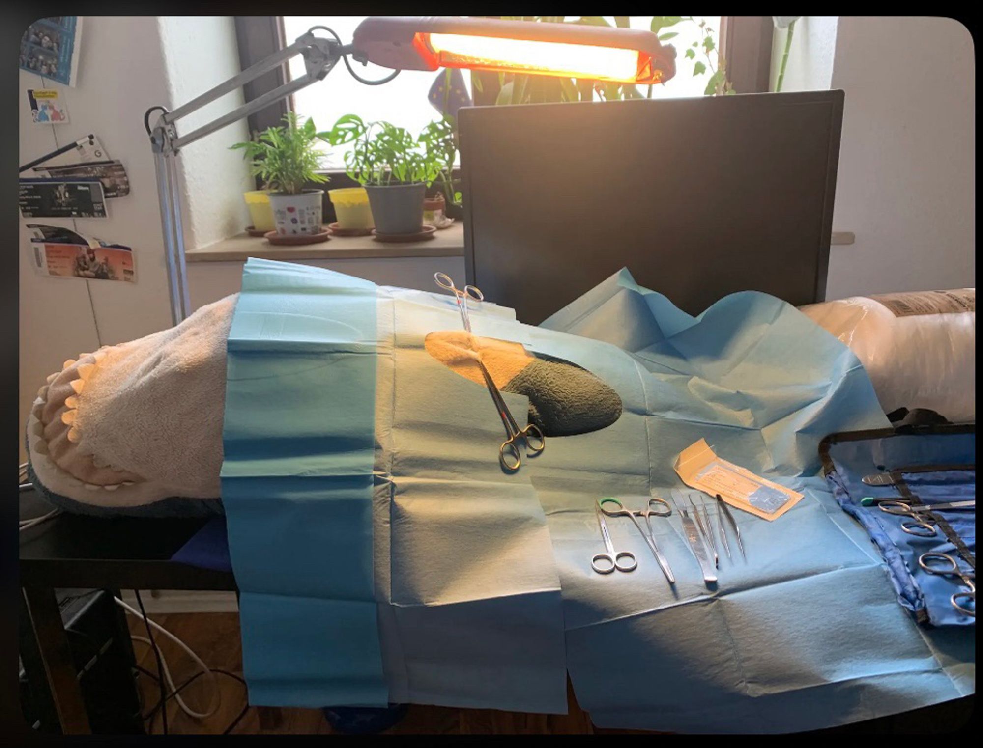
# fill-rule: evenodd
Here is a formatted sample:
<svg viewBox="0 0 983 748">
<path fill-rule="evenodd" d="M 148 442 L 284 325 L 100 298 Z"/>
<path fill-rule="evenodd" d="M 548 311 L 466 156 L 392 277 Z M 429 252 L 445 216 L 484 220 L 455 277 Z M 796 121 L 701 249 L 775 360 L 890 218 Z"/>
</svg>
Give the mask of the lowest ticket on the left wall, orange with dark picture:
<svg viewBox="0 0 983 748">
<path fill-rule="evenodd" d="M 93 281 L 137 280 L 133 249 L 108 244 L 58 226 L 29 224 L 34 269 L 51 278 L 83 278 Z"/>
</svg>

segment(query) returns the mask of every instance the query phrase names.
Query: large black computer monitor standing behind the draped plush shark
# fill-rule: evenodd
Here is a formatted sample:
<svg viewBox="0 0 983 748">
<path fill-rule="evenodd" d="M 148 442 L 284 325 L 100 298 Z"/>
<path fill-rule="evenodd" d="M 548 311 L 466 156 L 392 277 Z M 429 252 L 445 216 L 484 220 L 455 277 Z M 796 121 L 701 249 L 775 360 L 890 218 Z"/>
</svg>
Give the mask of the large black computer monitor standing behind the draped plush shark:
<svg viewBox="0 0 983 748">
<path fill-rule="evenodd" d="M 691 314 L 826 294 L 842 91 L 459 113 L 468 282 L 539 324 L 627 267 Z"/>
</svg>

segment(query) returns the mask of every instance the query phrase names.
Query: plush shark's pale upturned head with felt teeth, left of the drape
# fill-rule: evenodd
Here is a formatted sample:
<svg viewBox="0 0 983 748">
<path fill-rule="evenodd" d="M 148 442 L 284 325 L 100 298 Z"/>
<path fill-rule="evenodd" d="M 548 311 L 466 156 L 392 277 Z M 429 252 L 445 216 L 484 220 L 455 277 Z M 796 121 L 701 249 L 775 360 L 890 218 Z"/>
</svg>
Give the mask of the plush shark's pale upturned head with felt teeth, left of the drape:
<svg viewBox="0 0 983 748">
<path fill-rule="evenodd" d="M 225 347 L 236 299 L 69 359 L 51 375 L 28 429 L 41 484 L 105 507 L 219 497 Z"/>
</svg>

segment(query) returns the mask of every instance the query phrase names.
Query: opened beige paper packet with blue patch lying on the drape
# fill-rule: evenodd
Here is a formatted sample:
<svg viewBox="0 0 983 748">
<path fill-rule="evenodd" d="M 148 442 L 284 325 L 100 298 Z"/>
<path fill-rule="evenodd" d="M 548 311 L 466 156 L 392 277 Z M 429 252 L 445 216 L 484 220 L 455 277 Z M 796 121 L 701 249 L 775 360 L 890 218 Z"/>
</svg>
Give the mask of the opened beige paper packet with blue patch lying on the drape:
<svg viewBox="0 0 983 748">
<path fill-rule="evenodd" d="M 683 450 L 673 467 L 687 486 L 710 496 L 720 494 L 731 507 L 763 519 L 776 519 L 802 498 L 796 491 L 721 459 L 703 439 Z"/>
</svg>

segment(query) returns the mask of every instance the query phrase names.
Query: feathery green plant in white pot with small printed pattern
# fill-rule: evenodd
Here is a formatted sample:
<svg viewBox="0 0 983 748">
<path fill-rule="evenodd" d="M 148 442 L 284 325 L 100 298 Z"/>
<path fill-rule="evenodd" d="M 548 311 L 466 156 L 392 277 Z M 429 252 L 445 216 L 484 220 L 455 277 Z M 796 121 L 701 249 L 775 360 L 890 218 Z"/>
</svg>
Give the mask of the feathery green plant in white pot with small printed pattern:
<svg viewBox="0 0 983 748">
<path fill-rule="evenodd" d="M 232 147 L 245 150 L 246 158 L 253 160 L 252 173 L 272 189 L 269 203 L 277 234 L 320 234 L 324 190 L 305 185 L 328 181 L 316 171 L 323 158 L 318 141 L 326 140 L 327 134 L 318 133 L 311 119 L 298 125 L 294 112 L 287 112 L 283 120 L 283 127 L 268 128 L 256 140 Z"/>
</svg>

